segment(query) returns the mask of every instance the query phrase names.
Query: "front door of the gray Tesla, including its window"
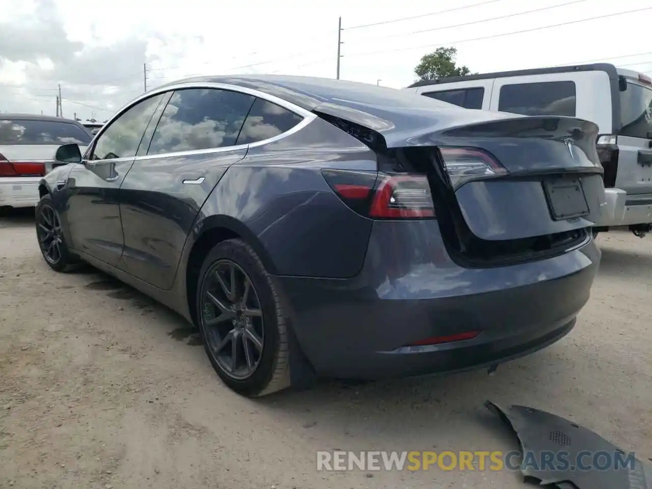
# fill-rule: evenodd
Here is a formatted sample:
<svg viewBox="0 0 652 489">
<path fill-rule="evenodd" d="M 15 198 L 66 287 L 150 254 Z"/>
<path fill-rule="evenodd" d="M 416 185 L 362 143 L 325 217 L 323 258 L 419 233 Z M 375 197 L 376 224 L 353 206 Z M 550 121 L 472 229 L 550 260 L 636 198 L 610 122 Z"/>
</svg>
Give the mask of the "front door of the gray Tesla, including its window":
<svg viewBox="0 0 652 489">
<path fill-rule="evenodd" d="M 118 190 L 163 97 L 141 100 L 113 119 L 93 141 L 83 164 L 68 175 L 66 218 L 72 246 L 110 265 L 119 263 L 124 246 Z"/>
</svg>

